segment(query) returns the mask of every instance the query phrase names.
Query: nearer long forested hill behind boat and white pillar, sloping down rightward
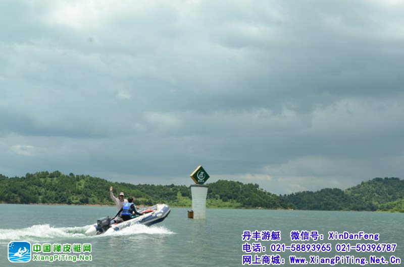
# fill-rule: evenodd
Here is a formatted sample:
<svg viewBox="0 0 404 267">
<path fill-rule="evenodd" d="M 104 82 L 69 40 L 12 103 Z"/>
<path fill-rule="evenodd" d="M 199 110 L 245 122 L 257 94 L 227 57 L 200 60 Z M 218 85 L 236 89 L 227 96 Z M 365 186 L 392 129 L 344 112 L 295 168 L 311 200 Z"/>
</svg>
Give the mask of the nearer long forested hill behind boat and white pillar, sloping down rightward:
<svg viewBox="0 0 404 267">
<path fill-rule="evenodd" d="M 8 178 L 0 175 L 0 202 L 56 204 L 113 204 L 109 188 L 114 193 L 136 197 L 136 204 L 167 203 L 173 207 L 191 207 L 191 192 L 185 185 L 153 185 L 110 182 L 89 175 L 69 175 L 59 171 L 27 173 L 25 177 Z M 209 183 L 207 206 L 215 208 L 288 209 L 293 205 L 279 196 L 259 188 L 258 184 L 243 184 L 219 180 Z"/>
</svg>

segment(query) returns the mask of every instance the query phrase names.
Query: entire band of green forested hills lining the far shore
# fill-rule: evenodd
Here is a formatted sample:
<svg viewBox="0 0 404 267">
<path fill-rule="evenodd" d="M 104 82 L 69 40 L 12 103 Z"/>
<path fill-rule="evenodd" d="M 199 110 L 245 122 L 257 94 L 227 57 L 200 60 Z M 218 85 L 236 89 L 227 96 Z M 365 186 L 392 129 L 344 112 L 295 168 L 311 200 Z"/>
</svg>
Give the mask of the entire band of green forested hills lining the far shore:
<svg viewBox="0 0 404 267">
<path fill-rule="evenodd" d="M 110 182 L 89 175 L 69 175 L 59 171 L 27 173 L 24 177 L 0 174 L 0 203 L 108 204 L 114 193 L 134 196 L 136 204 L 167 203 L 191 207 L 191 191 L 185 185 L 154 185 Z M 264 208 L 298 210 L 349 210 L 404 212 L 404 180 L 374 178 L 341 190 L 325 188 L 277 196 L 258 184 L 219 180 L 208 183 L 208 208 Z"/>
</svg>

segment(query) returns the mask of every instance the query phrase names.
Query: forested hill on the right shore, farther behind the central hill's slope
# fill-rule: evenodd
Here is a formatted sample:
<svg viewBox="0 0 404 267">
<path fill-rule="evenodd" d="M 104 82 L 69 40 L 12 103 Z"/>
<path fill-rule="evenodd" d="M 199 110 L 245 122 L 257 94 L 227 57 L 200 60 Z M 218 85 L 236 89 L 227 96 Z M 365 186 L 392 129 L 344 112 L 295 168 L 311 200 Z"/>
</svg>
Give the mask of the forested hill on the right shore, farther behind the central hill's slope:
<svg viewBox="0 0 404 267">
<path fill-rule="evenodd" d="M 404 180 L 374 178 L 341 190 L 325 188 L 281 196 L 299 210 L 397 211 L 404 212 Z"/>
</svg>

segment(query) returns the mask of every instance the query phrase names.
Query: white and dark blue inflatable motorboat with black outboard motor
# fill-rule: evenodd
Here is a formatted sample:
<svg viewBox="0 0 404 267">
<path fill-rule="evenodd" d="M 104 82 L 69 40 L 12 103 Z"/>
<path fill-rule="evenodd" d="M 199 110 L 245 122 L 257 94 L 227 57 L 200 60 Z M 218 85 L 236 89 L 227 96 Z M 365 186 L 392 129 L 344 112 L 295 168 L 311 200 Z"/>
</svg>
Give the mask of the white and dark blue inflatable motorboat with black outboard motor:
<svg viewBox="0 0 404 267">
<path fill-rule="evenodd" d="M 148 207 L 140 211 L 140 213 L 142 213 L 143 215 L 120 223 L 115 223 L 115 221 L 110 217 L 100 218 L 97 220 L 97 224 L 94 224 L 87 229 L 85 234 L 91 236 L 111 233 L 135 224 L 143 224 L 149 226 L 162 222 L 164 219 L 167 218 L 170 211 L 170 206 L 166 204 L 157 204 L 155 206 Z"/>
</svg>

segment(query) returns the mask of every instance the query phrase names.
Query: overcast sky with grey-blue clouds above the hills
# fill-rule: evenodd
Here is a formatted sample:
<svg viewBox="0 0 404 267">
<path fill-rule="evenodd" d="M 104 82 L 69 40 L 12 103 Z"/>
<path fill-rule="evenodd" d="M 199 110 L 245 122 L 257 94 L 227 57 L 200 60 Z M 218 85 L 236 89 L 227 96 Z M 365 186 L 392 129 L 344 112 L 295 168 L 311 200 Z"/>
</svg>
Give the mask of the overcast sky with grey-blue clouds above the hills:
<svg viewBox="0 0 404 267">
<path fill-rule="evenodd" d="M 0 173 L 404 175 L 402 1 L 1 1 Z M 108 188 L 107 188 L 108 189 Z"/>
</svg>

